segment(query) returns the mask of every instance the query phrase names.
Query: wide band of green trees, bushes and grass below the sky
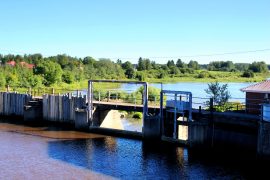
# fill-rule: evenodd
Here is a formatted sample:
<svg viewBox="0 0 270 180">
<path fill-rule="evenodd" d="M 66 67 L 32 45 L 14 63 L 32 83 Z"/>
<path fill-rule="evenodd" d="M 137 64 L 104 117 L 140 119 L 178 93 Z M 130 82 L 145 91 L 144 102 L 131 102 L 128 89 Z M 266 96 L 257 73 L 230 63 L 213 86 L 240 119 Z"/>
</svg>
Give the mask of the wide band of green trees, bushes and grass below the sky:
<svg viewBox="0 0 270 180">
<path fill-rule="evenodd" d="M 201 65 L 197 61 L 168 60 L 158 64 L 139 58 L 129 61 L 77 58 L 68 55 L 43 57 L 32 55 L 0 55 L 0 87 L 82 89 L 88 79 L 136 80 L 148 82 L 257 82 L 269 77 L 269 65 L 263 61 L 233 63 L 213 61 Z"/>
</svg>

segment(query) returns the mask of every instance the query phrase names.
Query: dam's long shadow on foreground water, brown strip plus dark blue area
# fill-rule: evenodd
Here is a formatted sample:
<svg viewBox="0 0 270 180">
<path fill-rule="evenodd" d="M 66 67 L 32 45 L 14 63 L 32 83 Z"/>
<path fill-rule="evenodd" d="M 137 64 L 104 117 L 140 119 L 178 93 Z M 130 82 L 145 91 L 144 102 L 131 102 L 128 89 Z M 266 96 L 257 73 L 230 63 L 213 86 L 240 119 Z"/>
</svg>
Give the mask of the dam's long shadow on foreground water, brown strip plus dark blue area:
<svg viewBox="0 0 270 180">
<path fill-rule="evenodd" d="M 99 174 L 132 179 L 260 179 L 269 177 L 268 163 L 246 149 L 193 151 L 169 143 L 149 143 L 69 128 L 17 125 L 0 121 L 1 131 L 38 136 L 48 143 L 50 158 Z M 25 136 L 21 136 L 25 138 Z M 45 138 L 45 139 L 44 139 Z M 49 138 L 49 140 L 48 140 Z M 27 139 L 29 141 L 29 138 Z M 47 156 L 46 156 L 47 157 Z"/>
</svg>

